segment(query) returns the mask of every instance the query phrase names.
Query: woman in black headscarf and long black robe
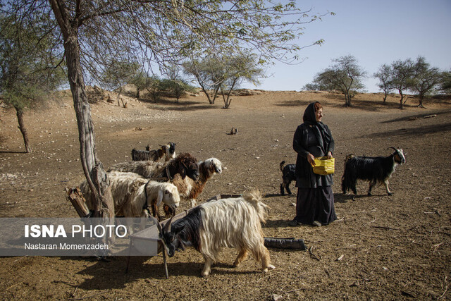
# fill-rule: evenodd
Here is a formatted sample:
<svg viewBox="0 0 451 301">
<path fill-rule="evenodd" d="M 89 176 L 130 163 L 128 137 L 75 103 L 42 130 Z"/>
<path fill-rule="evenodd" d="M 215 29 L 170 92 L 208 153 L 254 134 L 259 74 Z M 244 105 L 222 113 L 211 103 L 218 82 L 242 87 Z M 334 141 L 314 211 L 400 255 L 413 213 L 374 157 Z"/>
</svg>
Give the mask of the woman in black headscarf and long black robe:
<svg viewBox="0 0 451 301">
<path fill-rule="evenodd" d="M 332 175 L 321 176 L 313 172 L 311 164 L 319 156 L 332 158 L 334 141 L 327 125 L 321 122 L 323 107 L 313 102 L 304 111 L 304 123 L 299 125 L 293 138 L 297 152 L 295 219 L 291 226 L 305 223 L 314 226 L 328 225 L 337 219 L 333 201 Z"/>
</svg>

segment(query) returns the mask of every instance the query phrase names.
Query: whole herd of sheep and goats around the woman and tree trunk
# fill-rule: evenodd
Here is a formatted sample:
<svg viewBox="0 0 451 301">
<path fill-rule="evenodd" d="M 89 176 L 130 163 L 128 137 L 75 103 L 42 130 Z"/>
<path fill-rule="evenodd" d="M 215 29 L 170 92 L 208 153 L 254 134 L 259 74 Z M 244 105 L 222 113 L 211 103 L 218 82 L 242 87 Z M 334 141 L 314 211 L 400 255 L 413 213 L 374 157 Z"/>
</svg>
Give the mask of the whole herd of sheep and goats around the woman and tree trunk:
<svg viewBox="0 0 451 301">
<path fill-rule="evenodd" d="M 402 149 L 391 147 L 390 156 L 353 156 L 345 161 L 342 176 L 342 192 L 352 190 L 357 194 L 357 179 L 369 181 L 368 195 L 376 183 L 383 183 L 388 195 L 390 178 L 397 165 L 405 162 Z M 164 158 L 164 163 L 159 159 Z M 195 206 L 196 199 L 206 182 L 216 173 L 223 171 L 221 161 L 216 158 L 197 161 L 189 153 L 175 155 L 175 143 L 170 142 L 159 149 L 132 150 L 131 162 L 119 163 L 108 170 L 111 194 L 116 216 L 153 217 L 161 220 L 159 207 L 163 204 L 166 215 L 174 216 L 180 199 L 191 202 L 193 207 L 182 219 L 172 223 L 171 219 L 161 227 L 160 238 L 169 257 L 175 251 L 194 247 L 205 259 L 202 276 L 208 276 L 211 264 L 219 259 L 222 247 L 236 247 L 239 250 L 234 265 L 239 265 L 249 252 L 261 262 L 262 271 L 274 269 L 269 252 L 264 245 L 261 223 L 265 221 L 266 205 L 261 202 L 261 192 L 254 189 L 242 197 L 230 197 L 204 202 Z M 295 164 L 280 163 L 283 183 L 280 194 L 285 190 L 291 194 L 289 185 L 295 180 Z M 93 208 L 94 196 L 87 182 L 80 184 L 87 207 Z"/>
</svg>

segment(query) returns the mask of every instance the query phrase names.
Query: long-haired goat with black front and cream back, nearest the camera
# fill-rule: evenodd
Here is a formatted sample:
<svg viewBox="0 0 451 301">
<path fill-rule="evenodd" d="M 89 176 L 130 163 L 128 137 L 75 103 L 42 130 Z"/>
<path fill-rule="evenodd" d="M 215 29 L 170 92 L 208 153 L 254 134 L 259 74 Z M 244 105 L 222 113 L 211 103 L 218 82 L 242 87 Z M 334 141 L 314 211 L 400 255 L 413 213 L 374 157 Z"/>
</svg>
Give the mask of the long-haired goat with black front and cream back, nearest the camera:
<svg viewBox="0 0 451 301">
<path fill-rule="evenodd" d="M 218 261 L 223 247 L 235 247 L 240 251 L 235 266 L 250 252 L 257 261 L 261 261 L 261 269 L 266 272 L 274 269 L 261 230 L 266 207 L 261 202 L 259 190 L 247 192 L 244 197 L 206 202 L 174 223 L 171 223 L 171 218 L 163 228 L 157 223 L 160 238 L 169 257 L 173 257 L 177 250 L 185 250 L 185 247 L 199 251 L 205 259 L 202 276 L 210 274 L 211 264 Z"/>
</svg>

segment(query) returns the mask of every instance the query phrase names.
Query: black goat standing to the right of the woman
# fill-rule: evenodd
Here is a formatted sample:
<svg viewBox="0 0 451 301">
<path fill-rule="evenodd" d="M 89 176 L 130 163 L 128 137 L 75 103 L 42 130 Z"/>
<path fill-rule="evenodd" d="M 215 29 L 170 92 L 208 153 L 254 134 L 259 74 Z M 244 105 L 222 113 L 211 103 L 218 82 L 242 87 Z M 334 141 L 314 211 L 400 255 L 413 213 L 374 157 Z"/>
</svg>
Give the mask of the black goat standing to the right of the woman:
<svg viewBox="0 0 451 301">
<path fill-rule="evenodd" d="M 402 149 L 389 147 L 395 152 L 390 156 L 353 156 L 348 155 L 345 161 L 345 173 L 341 178 L 342 192 L 346 193 L 352 190 L 357 195 L 357 179 L 369 181 L 368 195 L 371 195 L 371 189 L 376 183 L 383 183 L 388 195 L 392 195 L 388 189 L 388 178 L 395 171 L 396 166 L 405 163 L 404 152 Z"/>
</svg>

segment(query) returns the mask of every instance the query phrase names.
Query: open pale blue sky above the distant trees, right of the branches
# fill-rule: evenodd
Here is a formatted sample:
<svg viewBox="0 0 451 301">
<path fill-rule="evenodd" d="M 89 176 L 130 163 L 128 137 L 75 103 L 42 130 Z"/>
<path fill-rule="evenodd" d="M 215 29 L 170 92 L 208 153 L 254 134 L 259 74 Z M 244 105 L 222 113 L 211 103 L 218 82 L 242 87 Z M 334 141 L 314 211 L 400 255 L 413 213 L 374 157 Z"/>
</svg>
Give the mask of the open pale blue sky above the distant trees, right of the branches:
<svg viewBox="0 0 451 301">
<path fill-rule="evenodd" d="M 451 0 L 308 0 L 304 10 L 333 11 L 306 25 L 299 45 L 324 39 L 324 44 L 299 52 L 303 63 L 271 66 L 262 90 L 301 90 L 332 59 L 351 54 L 371 76 L 383 63 L 424 56 L 431 66 L 451 70 Z M 368 92 L 378 92 L 375 78 L 364 81 Z"/>
</svg>

